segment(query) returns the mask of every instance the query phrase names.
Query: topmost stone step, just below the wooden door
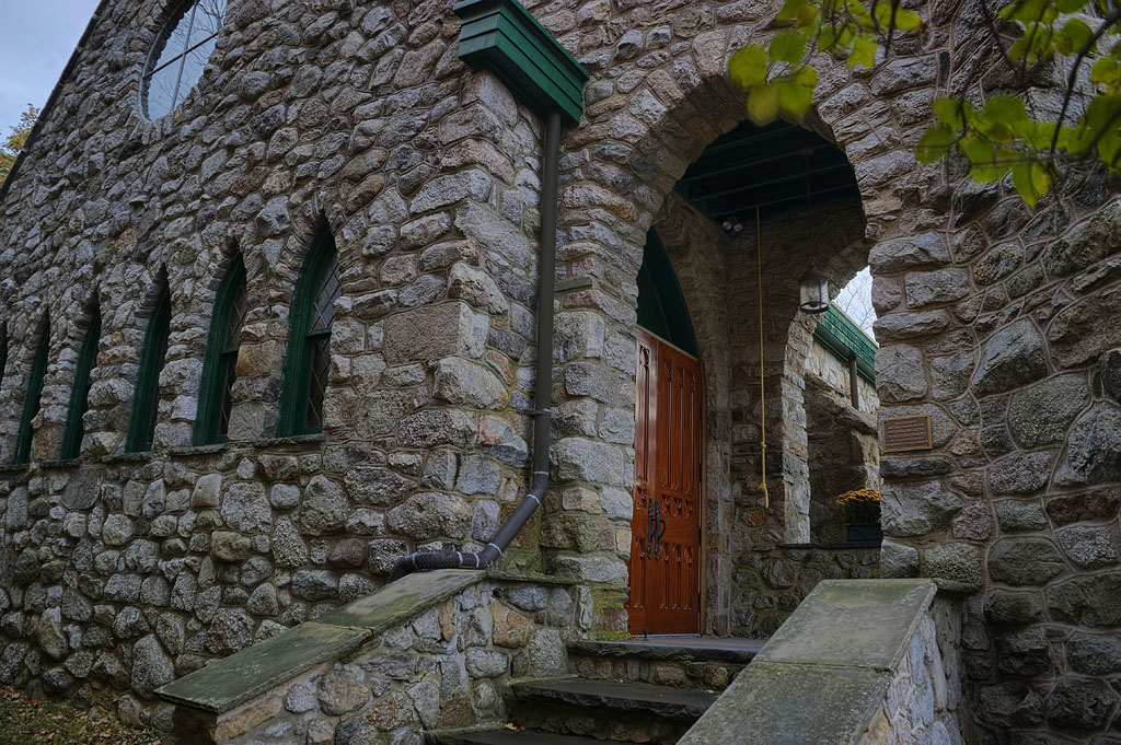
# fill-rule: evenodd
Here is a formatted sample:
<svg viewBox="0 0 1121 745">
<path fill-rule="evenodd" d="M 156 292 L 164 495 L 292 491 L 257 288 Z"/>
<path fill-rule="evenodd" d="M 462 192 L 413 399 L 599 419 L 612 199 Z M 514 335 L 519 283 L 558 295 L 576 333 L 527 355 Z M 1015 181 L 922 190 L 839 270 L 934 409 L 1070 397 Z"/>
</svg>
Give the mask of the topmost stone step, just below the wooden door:
<svg viewBox="0 0 1121 745">
<path fill-rule="evenodd" d="M 576 674 L 595 680 L 723 690 L 766 643 L 756 639 L 651 636 L 568 645 Z"/>
</svg>

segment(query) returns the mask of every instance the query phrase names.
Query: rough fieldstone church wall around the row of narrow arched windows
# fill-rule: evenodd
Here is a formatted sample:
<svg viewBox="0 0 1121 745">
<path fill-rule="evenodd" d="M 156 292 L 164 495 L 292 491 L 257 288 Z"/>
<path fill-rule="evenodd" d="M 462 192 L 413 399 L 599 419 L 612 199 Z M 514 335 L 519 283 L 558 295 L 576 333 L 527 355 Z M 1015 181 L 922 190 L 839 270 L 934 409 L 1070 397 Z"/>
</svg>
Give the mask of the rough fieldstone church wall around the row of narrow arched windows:
<svg viewBox="0 0 1121 745">
<path fill-rule="evenodd" d="M 139 76 L 174 4 L 102 3 L 0 206 L 0 463 L 50 322 L 33 463 L 0 482 L 0 680 L 86 700 L 147 699 L 371 592 L 410 550 L 480 547 L 526 482 L 537 115 L 458 62 L 446 3 L 231 0 L 200 84 L 147 121 Z M 289 305 L 323 225 L 342 278 L 324 431 L 278 440 Z M 249 310 L 231 441 L 191 448 L 234 252 Z M 122 454 L 163 283 L 155 444 Z M 56 463 L 95 305 L 82 456 Z M 537 536 L 508 566 L 539 565 Z"/>
</svg>

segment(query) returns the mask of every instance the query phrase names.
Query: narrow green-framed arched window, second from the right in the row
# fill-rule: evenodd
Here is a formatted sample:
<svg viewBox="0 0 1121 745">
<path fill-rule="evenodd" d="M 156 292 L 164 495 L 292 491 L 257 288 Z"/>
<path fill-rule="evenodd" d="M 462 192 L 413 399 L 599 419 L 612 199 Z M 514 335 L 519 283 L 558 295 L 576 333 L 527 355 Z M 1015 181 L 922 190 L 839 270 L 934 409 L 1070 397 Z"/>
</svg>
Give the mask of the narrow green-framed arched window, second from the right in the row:
<svg viewBox="0 0 1121 745">
<path fill-rule="evenodd" d="M 238 350 L 245 310 L 245 264 L 239 254 L 230 263 L 214 298 L 214 315 L 203 361 L 203 382 L 198 390 L 198 416 L 193 435 L 195 445 L 225 443 L 229 439 L 233 383 L 238 380 Z"/>
</svg>

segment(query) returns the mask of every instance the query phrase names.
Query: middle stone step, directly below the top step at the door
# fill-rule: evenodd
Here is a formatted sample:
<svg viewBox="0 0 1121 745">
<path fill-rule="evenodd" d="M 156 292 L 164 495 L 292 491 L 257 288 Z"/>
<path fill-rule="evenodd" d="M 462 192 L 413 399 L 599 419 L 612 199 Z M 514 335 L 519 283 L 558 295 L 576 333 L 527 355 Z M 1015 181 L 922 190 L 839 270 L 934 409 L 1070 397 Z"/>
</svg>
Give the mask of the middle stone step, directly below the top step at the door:
<svg viewBox="0 0 1121 745">
<path fill-rule="evenodd" d="M 697 719 L 716 700 L 715 693 L 703 690 L 578 678 L 515 682 L 510 685 L 510 693 L 518 701 L 685 720 Z"/>
</svg>

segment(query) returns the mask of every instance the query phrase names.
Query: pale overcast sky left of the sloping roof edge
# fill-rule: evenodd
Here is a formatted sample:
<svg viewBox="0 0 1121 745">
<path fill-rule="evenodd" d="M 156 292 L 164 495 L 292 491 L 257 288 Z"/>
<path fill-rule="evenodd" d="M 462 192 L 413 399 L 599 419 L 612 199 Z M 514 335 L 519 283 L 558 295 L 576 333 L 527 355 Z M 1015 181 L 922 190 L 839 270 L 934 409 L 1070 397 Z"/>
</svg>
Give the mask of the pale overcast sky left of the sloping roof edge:
<svg viewBox="0 0 1121 745">
<path fill-rule="evenodd" d="M 0 138 L 58 82 L 98 0 L 0 0 Z"/>
</svg>

